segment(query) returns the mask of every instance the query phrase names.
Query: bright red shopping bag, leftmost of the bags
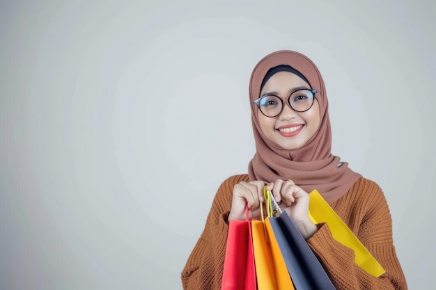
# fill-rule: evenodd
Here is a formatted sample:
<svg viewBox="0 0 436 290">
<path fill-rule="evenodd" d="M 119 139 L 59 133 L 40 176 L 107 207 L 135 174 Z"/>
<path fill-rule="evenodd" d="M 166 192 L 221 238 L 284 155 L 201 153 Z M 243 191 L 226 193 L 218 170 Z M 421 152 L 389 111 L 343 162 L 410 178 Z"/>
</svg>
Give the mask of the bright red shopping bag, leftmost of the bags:
<svg viewBox="0 0 436 290">
<path fill-rule="evenodd" d="M 221 290 L 256 290 L 251 222 L 246 210 L 245 221 L 230 220 Z"/>
</svg>

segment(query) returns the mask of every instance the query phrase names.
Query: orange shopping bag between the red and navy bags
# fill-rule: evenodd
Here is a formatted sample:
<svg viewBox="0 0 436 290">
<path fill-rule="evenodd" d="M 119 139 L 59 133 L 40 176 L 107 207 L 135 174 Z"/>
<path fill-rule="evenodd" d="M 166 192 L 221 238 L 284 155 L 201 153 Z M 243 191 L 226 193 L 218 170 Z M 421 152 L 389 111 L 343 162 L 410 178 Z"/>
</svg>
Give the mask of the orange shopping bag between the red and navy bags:
<svg viewBox="0 0 436 290">
<path fill-rule="evenodd" d="M 258 290 L 293 290 L 293 282 L 272 229 L 265 227 L 262 204 L 260 209 L 262 220 L 251 221 Z"/>
</svg>

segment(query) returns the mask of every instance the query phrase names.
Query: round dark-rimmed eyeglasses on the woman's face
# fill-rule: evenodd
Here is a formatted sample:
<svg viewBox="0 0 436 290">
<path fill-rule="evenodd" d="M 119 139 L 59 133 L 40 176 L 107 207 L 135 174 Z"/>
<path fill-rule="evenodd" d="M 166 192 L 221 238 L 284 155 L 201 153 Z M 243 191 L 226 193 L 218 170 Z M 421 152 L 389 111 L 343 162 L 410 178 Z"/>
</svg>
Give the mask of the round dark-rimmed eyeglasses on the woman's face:
<svg viewBox="0 0 436 290">
<path fill-rule="evenodd" d="M 309 110 L 315 102 L 316 92 L 318 90 L 295 90 L 287 99 L 290 108 L 299 113 Z M 260 112 L 270 118 L 277 117 L 283 111 L 283 99 L 276 95 L 264 95 L 256 99 L 253 104 L 258 105 Z"/>
</svg>

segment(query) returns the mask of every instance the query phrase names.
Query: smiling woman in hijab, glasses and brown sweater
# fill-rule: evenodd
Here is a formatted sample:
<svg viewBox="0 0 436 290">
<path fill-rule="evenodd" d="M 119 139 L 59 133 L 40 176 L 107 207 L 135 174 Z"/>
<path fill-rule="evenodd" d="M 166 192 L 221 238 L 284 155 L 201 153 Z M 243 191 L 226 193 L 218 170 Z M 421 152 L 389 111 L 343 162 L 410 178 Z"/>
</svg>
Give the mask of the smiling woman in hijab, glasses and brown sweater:
<svg viewBox="0 0 436 290">
<path fill-rule="evenodd" d="M 229 220 L 260 215 L 266 185 L 323 264 L 336 289 L 407 289 L 392 241 L 384 194 L 331 153 L 327 95 L 317 67 L 295 51 L 277 51 L 254 68 L 249 85 L 256 154 L 248 175 L 221 184 L 205 229 L 182 272 L 184 289 L 220 289 Z M 317 189 L 386 273 L 373 277 L 328 225 L 308 216 Z"/>
</svg>

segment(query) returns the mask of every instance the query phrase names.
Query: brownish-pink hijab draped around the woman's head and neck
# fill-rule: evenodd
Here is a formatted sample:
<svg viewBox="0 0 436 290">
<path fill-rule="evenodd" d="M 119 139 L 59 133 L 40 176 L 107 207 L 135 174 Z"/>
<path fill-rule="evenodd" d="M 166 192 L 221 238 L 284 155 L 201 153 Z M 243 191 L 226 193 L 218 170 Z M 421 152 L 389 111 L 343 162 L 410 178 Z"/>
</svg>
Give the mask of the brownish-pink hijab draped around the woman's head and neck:
<svg viewBox="0 0 436 290">
<path fill-rule="evenodd" d="M 278 65 L 289 65 L 306 77 L 311 88 L 318 90 L 316 99 L 320 106 L 320 127 L 306 145 L 296 150 L 284 150 L 265 137 L 258 122 L 258 107 L 253 104 L 260 97 L 265 74 Z M 251 74 L 249 94 L 256 141 L 256 154 L 249 163 L 251 181 L 292 179 L 304 191 L 310 193 L 316 189 L 327 202 L 332 203 L 347 193 L 361 177 L 348 168 L 348 163 L 340 162 L 338 156 L 332 155 L 332 131 L 324 81 L 309 58 L 295 51 L 276 51 L 265 56 Z"/>
</svg>

